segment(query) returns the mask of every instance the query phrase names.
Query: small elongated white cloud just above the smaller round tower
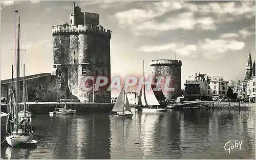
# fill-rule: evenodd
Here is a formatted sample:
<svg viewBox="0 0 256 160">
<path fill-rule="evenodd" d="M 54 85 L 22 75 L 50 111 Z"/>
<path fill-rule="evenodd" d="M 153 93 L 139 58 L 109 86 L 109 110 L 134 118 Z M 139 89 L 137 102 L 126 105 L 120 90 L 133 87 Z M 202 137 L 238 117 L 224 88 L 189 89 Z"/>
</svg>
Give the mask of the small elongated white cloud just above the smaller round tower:
<svg viewBox="0 0 256 160">
<path fill-rule="evenodd" d="M 168 43 L 163 45 L 145 45 L 141 46 L 140 50 L 143 52 L 177 52 L 178 55 L 189 56 L 191 54 L 195 54 L 194 51 L 197 50 L 197 45 L 189 44 L 185 45 L 184 43 Z"/>
</svg>

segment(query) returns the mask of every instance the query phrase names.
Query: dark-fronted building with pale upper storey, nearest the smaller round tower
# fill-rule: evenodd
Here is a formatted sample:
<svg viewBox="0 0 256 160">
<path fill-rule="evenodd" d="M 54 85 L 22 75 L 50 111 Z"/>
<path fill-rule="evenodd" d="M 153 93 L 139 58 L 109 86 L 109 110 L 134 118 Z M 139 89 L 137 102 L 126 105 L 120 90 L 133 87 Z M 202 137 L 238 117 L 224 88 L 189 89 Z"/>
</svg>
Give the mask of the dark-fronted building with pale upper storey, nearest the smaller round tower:
<svg viewBox="0 0 256 160">
<path fill-rule="evenodd" d="M 205 74 L 196 73 L 195 76 L 189 76 L 184 84 L 184 97 L 190 100 L 206 99 L 209 80 Z"/>
</svg>

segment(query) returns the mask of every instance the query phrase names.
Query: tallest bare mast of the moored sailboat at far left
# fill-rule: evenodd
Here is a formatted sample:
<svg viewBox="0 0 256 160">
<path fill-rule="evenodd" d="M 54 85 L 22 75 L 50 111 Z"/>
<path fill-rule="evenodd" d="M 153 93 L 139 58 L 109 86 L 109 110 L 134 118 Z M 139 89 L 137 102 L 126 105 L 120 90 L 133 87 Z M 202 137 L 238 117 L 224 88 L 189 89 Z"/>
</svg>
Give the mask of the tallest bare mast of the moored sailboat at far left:
<svg viewBox="0 0 256 160">
<path fill-rule="evenodd" d="M 18 13 L 18 10 L 15 11 Z M 19 30 L 20 30 L 20 23 L 19 23 L 19 16 L 18 16 L 18 35 L 17 35 L 17 64 L 16 64 L 16 131 L 18 131 L 18 102 L 19 102 Z"/>
</svg>

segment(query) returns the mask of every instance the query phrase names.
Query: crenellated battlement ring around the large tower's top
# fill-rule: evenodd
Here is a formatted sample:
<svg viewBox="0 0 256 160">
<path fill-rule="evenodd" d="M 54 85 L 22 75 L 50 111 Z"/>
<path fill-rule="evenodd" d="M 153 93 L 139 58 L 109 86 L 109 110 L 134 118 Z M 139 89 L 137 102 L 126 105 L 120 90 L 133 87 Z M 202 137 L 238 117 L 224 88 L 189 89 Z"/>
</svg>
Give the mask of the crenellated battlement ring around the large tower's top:
<svg viewBox="0 0 256 160">
<path fill-rule="evenodd" d="M 81 33 L 81 32 L 93 32 L 99 33 L 107 36 L 111 36 L 112 31 L 104 29 L 101 25 L 93 25 L 93 24 L 79 24 L 79 25 L 69 25 L 67 23 L 61 23 L 59 25 L 52 26 L 52 35 L 56 35 L 58 33 Z"/>
</svg>

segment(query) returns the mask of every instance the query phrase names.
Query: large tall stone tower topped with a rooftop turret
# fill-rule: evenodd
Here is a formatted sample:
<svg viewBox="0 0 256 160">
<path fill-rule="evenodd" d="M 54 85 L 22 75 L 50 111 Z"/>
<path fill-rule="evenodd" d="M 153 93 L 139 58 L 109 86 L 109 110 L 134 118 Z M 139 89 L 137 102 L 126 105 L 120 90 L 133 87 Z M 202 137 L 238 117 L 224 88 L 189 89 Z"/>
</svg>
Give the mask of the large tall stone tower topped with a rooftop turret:
<svg viewBox="0 0 256 160">
<path fill-rule="evenodd" d="M 111 78 L 111 31 L 99 24 L 99 14 L 81 12 L 73 3 L 70 24 L 62 22 L 53 26 L 52 35 L 53 66 L 59 74 L 59 98 L 73 95 L 80 101 L 93 102 L 94 95 L 95 102 L 111 101 L 108 85 L 93 92 L 97 76 L 108 77 L 109 83 Z M 94 81 L 88 80 L 90 76 L 95 77 Z"/>
</svg>

